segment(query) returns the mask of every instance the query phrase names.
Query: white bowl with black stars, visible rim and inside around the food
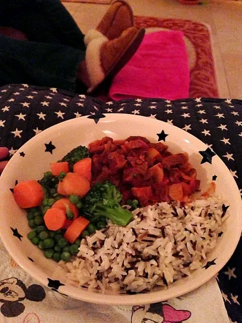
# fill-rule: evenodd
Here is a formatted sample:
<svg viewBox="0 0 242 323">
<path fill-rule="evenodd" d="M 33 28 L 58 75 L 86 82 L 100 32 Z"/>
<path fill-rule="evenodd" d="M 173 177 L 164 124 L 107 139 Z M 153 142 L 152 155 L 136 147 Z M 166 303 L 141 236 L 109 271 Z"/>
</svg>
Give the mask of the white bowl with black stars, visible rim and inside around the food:
<svg viewBox="0 0 242 323">
<path fill-rule="evenodd" d="M 203 156 L 199 151 L 209 149 L 208 146 L 186 131 L 170 124 L 147 117 L 125 114 L 107 114 L 102 115 L 100 119 L 93 119 L 97 116 L 90 117 L 72 119 L 46 129 L 24 144 L 5 168 L 0 178 L 0 236 L 8 252 L 30 276 L 42 285 L 54 288 L 70 297 L 92 303 L 135 305 L 160 302 L 186 294 L 206 283 L 229 260 L 241 234 L 241 198 L 230 171 L 217 155 L 212 157 L 211 164 L 208 161 L 201 164 Z M 102 296 L 96 292 L 66 285 L 64 277 L 61 279 L 62 284 L 59 284 L 59 281 L 53 277 L 57 263 L 46 259 L 42 251 L 27 239 L 26 235 L 30 229 L 26 212 L 17 206 L 10 188 L 15 186 L 16 180 L 20 182 L 42 178 L 43 173 L 49 170 L 50 163 L 62 158 L 80 144 L 88 145 L 104 136 L 125 139 L 131 135 L 144 136 L 157 142 L 157 134 L 162 131 L 168 134 L 165 143 L 171 152 L 186 151 L 189 154 L 190 161 L 198 172 L 198 179 L 201 180 L 202 189 L 206 188 L 214 175 L 217 176 L 217 192 L 222 193 L 229 205 L 230 216 L 223 223 L 223 234 L 204 263 L 205 265 L 208 261 L 212 261 L 210 263 L 212 265 L 207 269 L 203 267 L 194 271 L 190 277 L 180 279 L 169 285 L 168 288 L 146 294 L 106 294 Z M 55 148 L 51 147 L 51 144 Z M 20 155 L 21 152 L 24 152 L 24 157 Z M 22 236 L 21 240 L 17 237 L 17 231 L 13 231 L 11 228 L 17 229 Z"/>
</svg>

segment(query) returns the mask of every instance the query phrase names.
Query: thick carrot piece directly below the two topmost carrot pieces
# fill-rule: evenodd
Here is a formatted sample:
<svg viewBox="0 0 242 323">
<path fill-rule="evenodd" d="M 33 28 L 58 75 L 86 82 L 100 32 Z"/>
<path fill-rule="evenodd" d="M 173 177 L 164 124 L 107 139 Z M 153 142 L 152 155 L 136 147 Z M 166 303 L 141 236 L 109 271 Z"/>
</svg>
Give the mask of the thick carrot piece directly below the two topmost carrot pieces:
<svg viewBox="0 0 242 323">
<path fill-rule="evenodd" d="M 78 173 L 67 173 L 62 182 L 63 189 L 68 195 L 83 197 L 90 189 L 90 182 Z"/>
</svg>

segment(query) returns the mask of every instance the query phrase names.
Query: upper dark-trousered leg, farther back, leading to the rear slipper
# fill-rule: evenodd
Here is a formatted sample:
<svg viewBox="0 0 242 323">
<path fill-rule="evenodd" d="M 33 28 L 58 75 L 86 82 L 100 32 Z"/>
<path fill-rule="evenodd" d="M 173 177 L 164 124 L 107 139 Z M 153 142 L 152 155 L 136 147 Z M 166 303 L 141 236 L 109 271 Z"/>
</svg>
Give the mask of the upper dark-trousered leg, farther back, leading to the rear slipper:
<svg viewBox="0 0 242 323">
<path fill-rule="evenodd" d="M 59 0 L 7 0 L 0 25 L 24 32 L 31 41 L 58 43 L 85 50 L 84 35 Z"/>
</svg>

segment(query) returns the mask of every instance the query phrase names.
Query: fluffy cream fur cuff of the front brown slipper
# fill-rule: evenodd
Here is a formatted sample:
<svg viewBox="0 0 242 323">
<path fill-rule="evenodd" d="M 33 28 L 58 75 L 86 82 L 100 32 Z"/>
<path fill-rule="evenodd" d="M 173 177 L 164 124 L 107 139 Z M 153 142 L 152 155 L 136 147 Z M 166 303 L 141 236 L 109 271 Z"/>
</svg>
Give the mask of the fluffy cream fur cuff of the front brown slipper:
<svg viewBox="0 0 242 323">
<path fill-rule="evenodd" d="M 108 39 L 102 35 L 100 38 L 92 39 L 87 45 L 85 60 L 91 83 L 91 87 L 88 89 L 88 92 L 91 92 L 92 89 L 104 79 L 105 74 L 101 64 L 100 50 L 102 44 L 106 41 L 108 41 Z"/>
</svg>

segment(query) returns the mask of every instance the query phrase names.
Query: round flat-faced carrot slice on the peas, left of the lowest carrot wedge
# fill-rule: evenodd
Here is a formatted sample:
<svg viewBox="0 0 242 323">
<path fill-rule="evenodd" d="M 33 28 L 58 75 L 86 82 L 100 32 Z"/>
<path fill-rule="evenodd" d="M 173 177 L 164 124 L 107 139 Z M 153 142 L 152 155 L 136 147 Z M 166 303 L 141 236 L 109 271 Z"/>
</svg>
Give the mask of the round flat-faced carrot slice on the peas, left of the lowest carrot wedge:
<svg viewBox="0 0 242 323">
<path fill-rule="evenodd" d="M 44 223 L 47 229 L 56 231 L 61 229 L 66 222 L 66 211 L 57 208 L 51 207 L 44 214 Z"/>
</svg>

